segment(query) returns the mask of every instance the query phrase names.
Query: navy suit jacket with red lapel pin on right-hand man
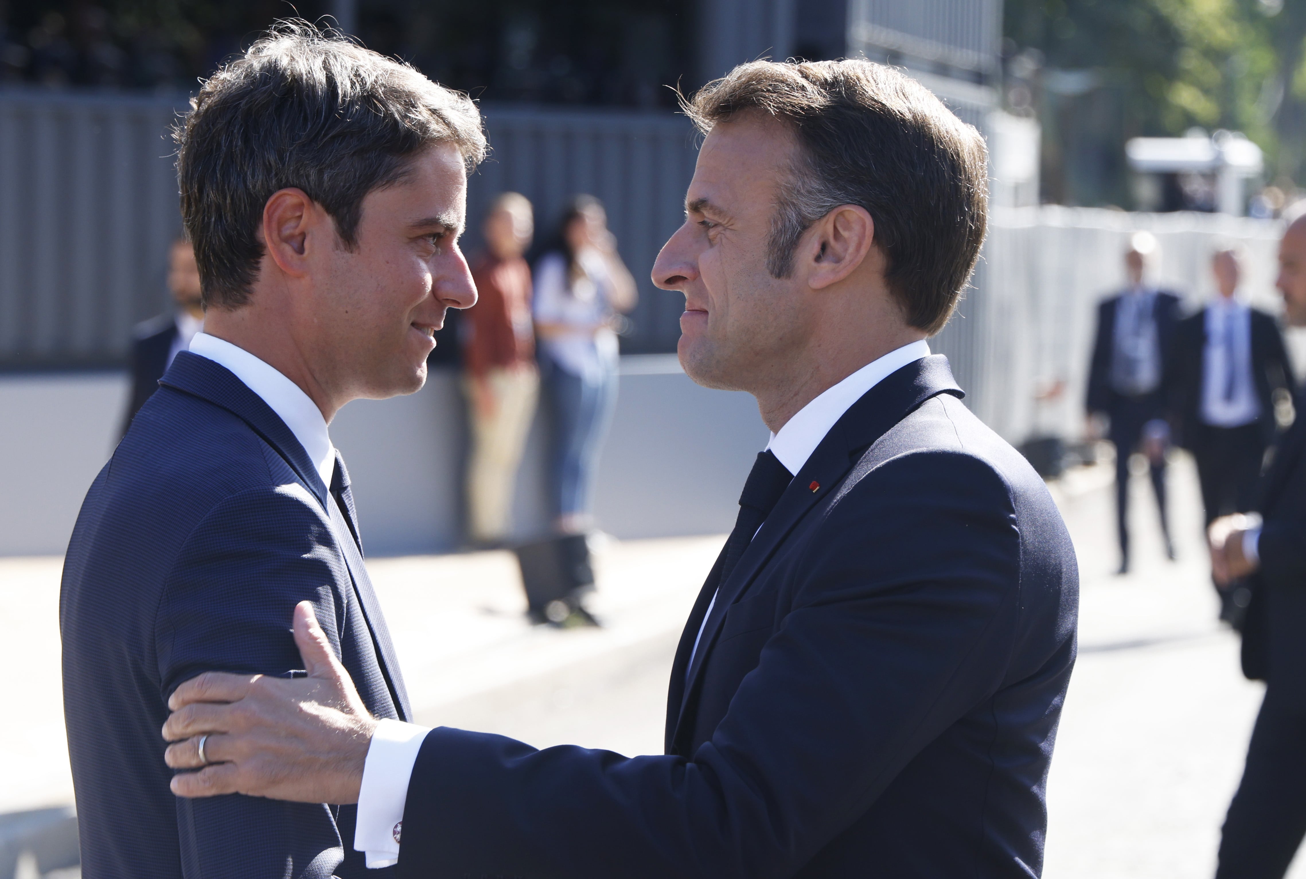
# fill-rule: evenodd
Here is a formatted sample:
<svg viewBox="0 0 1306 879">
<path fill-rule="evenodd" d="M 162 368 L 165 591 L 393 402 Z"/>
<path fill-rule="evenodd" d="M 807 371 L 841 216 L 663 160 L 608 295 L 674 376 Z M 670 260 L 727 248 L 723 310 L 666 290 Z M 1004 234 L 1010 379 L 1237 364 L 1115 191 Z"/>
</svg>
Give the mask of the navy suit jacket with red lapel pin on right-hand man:
<svg viewBox="0 0 1306 879">
<path fill-rule="evenodd" d="M 1042 481 L 959 397 L 943 357 L 884 379 L 724 583 L 718 560 L 665 755 L 432 730 L 400 876 L 1037 875 L 1077 568 Z"/>
</svg>

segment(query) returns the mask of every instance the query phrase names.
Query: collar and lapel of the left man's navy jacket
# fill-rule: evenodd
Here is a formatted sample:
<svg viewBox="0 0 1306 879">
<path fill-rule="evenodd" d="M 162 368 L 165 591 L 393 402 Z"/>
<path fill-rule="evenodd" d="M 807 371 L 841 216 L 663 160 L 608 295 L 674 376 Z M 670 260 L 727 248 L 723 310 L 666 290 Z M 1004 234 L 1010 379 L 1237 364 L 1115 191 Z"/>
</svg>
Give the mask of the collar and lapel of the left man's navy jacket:
<svg viewBox="0 0 1306 879">
<path fill-rule="evenodd" d="M 349 569 L 354 586 L 354 597 L 363 613 L 363 622 L 372 636 L 376 649 L 376 660 L 381 665 L 381 671 L 390 687 L 390 697 L 401 720 L 411 717 L 407 704 L 407 692 L 404 687 L 404 678 L 400 675 L 398 661 L 394 648 L 390 644 L 389 631 L 385 628 L 385 618 L 381 615 L 380 605 L 372 592 L 372 583 L 367 577 L 367 568 L 363 564 L 360 545 L 357 541 L 357 528 L 354 525 L 354 511 L 349 511 L 346 520 L 341 513 L 328 487 L 323 485 L 317 468 L 308 458 L 308 453 L 294 432 L 286 427 L 286 422 L 272 410 L 263 397 L 251 391 L 230 370 L 214 363 L 206 357 L 179 351 L 167 374 L 159 384 L 180 391 L 183 393 L 200 397 L 217 406 L 222 406 L 236 418 L 246 422 L 268 445 L 277 451 L 282 460 L 295 471 L 299 481 L 308 491 L 317 498 L 326 513 L 328 521 L 336 535 L 336 542 L 341 547 L 345 566 Z M 342 468 L 343 473 L 343 468 Z M 347 479 L 347 475 L 343 477 Z"/>
</svg>

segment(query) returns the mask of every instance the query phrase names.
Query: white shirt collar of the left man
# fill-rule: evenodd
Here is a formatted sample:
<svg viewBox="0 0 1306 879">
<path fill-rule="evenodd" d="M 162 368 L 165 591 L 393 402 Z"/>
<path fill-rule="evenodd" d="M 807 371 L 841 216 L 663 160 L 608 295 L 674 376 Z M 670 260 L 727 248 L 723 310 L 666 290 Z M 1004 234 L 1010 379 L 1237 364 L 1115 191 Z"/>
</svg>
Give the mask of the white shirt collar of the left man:
<svg viewBox="0 0 1306 879">
<path fill-rule="evenodd" d="M 195 334 L 191 340 L 191 354 L 206 357 L 218 366 L 225 366 L 247 388 L 259 394 L 268 408 L 286 422 L 286 427 L 308 453 L 308 460 L 317 468 L 323 485 L 330 488 L 330 478 L 336 471 L 336 448 L 330 444 L 326 419 L 323 418 L 321 410 L 298 384 L 249 351 L 208 333 Z"/>
</svg>

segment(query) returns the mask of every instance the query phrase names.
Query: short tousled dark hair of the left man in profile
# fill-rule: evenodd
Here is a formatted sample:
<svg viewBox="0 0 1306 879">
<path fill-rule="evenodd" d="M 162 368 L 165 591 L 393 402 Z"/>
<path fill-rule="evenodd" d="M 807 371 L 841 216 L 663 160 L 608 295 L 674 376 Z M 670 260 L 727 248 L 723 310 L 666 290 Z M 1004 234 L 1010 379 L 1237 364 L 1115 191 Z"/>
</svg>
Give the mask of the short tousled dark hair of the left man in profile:
<svg viewBox="0 0 1306 879">
<path fill-rule="evenodd" d="M 465 94 L 304 21 L 278 22 L 209 77 L 174 136 L 204 304 L 219 308 L 249 300 L 278 189 L 303 189 L 354 247 L 363 197 L 402 180 L 426 148 L 454 144 L 469 171 L 486 153 Z"/>
</svg>

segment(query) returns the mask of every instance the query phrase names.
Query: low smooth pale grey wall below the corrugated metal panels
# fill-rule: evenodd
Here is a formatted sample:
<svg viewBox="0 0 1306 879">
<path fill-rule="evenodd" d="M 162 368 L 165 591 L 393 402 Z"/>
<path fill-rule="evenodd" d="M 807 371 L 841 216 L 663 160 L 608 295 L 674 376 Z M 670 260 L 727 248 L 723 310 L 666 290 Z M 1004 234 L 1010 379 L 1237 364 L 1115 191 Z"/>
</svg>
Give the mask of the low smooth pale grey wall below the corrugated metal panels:
<svg viewBox="0 0 1306 879">
<path fill-rule="evenodd" d="M 120 372 L 0 375 L 0 456 L 17 462 L 0 504 L 0 555 L 61 554 L 82 498 L 112 453 L 127 405 Z M 407 397 L 358 400 L 330 426 L 370 555 L 462 541 L 466 406 L 457 376 L 432 372 Z M 545 415 L 517 478 L 515 533 L 549 530 Z M 669 355 L 623 358 L 598 471 L 598 524 L 616 537 L 729 532 L 767 428 L 752 397 L 690 381 Z"/>
</svg>

